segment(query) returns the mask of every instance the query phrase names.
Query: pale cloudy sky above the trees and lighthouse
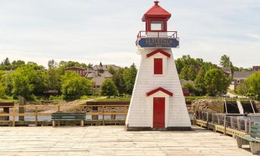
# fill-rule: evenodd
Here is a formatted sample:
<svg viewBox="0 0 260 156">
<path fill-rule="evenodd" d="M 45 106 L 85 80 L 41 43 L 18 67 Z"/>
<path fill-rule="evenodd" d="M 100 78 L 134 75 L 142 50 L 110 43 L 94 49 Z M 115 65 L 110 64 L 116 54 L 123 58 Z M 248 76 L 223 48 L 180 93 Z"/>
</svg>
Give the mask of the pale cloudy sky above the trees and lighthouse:
<svg viewBox="0 0 260 156">
<path fill-rule="evenodd" d="M 175 58 L 191 55 L 236 67 L 260 65 L 260 0 L 161 0 L 177 31 Z M 0 0 L 0 61 L 48 60 L 137 66 L 135 40 L 152 0 Z"/>
</svg>

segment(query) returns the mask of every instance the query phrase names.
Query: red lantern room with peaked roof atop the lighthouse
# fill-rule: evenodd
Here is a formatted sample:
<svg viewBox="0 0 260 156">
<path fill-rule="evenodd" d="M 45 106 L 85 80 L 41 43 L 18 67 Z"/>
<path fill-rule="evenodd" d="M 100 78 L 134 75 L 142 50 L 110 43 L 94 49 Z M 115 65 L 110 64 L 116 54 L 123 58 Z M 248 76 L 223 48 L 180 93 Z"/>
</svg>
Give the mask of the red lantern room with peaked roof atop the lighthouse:
<svg viewBox="0 0 260 156">
<path fill-rule="evenodd" d="M 155 6 L 150 8 L 142 18 L 142 21 L 146 21 L 146 32 L 166 32 L 170 17 L 171 13 L 159 6 L 159 1 L 155 1 Z"/>
</svg>

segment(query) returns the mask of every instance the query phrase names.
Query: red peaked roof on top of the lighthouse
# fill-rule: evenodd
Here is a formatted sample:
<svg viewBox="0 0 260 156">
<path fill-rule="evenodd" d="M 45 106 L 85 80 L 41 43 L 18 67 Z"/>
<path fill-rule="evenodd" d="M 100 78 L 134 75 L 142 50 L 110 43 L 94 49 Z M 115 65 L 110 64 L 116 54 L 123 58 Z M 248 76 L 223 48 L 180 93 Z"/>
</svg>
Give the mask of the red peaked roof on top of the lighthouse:
<svg viewBox="0 0 260 156">
<path fill-rule="evenodd" d="M 164 8 L 159 6 L 159 1 L 155 1 L 155 6 L 150 8 L 142 18 L 143 21 L 146 21 L 147 18 L 167 18 L 167 20 L 171 17 L 171 13 L 166 11 Z"/>
</svg>

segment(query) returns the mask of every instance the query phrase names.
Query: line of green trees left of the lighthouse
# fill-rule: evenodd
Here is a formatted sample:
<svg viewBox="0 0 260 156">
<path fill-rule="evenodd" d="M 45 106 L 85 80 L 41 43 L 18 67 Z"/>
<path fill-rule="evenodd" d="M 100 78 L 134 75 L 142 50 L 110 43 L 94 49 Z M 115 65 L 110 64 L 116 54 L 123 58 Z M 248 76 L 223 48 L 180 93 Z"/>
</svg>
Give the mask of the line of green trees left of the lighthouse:
<svg viewBox="0 0 260 156">
<path fill-rule="evenodd" d="M 17 63 L 18 62 L 18 63 Z M 0 98 L 17 98 L 24 96 L 29 100 L 35 100 L 37 96 L 44 96 L 44 91 L 57 90 L 63 98 L 80 98 L 81 96 L 93 95 L 94 82 L 88 78 L 78 76 L 74 71 L 65 71 L 68 67 L 92 67 L 93 64 L 79 62 L 59 63 L 55 60 L 48 62 L 46 69 L 35 62 L 25 63 L 22 60 L 10 62 L 8 58 L 0 64 Z M 130 68 L 110 69 L 112 79 L 107 79 L 101 86 L 101 94 L 116 96 L 121 94 L 132 94 L 132 87 L 135 84 L 136 67 L 132 64 Z M 123 79 L 117 83 L 117 76 L 123 73 Z M 107 81 L 115 86 L 108 88 L 105 92 Z M 123 87 L 123 89 L 122 89 Z"/>
</svg>

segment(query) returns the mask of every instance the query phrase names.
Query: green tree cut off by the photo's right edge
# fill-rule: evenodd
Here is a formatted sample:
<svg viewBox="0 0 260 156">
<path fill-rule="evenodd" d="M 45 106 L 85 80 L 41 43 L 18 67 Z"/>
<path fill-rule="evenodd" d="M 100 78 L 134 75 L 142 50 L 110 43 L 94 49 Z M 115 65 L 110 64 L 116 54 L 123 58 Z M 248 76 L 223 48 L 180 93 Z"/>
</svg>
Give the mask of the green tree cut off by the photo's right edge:
<svg viewBox="0 0 260 156">
<path fill-rule="evenodd" d="M 257 96 L 260 99 L 260 71 L 253 73 L 251 76 L 248 76 L 248 79 L 245 80 L 250 87 L 250 93 Z"/>
</svg>

